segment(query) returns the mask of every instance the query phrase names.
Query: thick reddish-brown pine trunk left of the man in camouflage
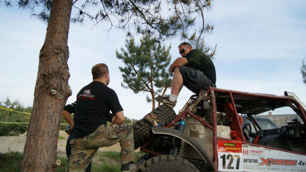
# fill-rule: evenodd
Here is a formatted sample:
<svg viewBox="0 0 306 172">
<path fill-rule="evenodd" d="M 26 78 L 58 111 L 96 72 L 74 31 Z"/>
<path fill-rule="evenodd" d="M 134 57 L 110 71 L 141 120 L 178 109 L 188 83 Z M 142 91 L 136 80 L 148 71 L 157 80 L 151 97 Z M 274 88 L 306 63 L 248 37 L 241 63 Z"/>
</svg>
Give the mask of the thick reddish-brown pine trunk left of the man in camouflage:
<svg viewBox="0 0 306 172">
<path fill-rule="evenodd" d="M 67 65 L 72 0 L 52 0 L 44 44 L 39 54 L 32 115 L 21 172 L 55 172 L 61 114 L 71 95 Z"/>
</svg>

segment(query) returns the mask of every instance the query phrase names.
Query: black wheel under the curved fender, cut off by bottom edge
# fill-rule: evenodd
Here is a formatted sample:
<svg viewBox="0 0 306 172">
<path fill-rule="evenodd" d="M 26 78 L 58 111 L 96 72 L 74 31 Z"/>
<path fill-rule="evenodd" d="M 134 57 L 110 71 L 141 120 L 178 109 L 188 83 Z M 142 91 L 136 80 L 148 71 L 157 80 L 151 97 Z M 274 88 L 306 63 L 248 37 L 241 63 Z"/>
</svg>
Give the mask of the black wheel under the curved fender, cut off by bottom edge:
<svg viewBox="0 0 306 172">
<path fill-rule="evenodd" d="M 146 161 L 137 172 L 200 172 L 189 161 L 179 156 L 160 155 Z"/>
</svg>

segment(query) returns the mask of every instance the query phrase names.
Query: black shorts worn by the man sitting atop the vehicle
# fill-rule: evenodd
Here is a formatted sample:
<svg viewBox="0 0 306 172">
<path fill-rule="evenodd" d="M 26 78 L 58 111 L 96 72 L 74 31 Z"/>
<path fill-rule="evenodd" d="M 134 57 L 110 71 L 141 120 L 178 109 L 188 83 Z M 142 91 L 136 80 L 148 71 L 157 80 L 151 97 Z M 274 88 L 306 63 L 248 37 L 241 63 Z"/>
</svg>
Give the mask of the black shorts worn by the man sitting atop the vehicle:
<svg viewBox="0 0 306 172">
<path fill-rule="evenodd" d="M 200 90 L 205 90 L 209 86 L 216 87 L 203 72 L 195 70 L 192 67 L 180 66 L 179 71 L 183 76 L 183 85 L 195 94 L 198 94 Z"/>
</svg>

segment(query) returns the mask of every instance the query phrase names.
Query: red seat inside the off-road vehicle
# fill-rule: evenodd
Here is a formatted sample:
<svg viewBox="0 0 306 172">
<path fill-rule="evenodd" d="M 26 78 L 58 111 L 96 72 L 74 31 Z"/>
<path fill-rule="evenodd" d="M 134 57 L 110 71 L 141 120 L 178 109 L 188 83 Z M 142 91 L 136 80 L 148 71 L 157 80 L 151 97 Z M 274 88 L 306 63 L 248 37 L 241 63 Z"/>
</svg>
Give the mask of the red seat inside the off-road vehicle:
<svg viewBox="0 0 306 172">
<path fill-rule="evenodd" d="M 227 123 L 226 125 L 229 126 L 231 129 L 239 131 L 239 123 L 240 125 L 243 124 L 243 119 L 238 115 L 238 119 L 236 118 L 236 114 L 234 112 L 234 109 L 232 105 L 229 102 L 226 102 L 224 105 L 224 112 L 227 114 L 227 122 L 231 121 L 231 123 Z"/>
</svg>

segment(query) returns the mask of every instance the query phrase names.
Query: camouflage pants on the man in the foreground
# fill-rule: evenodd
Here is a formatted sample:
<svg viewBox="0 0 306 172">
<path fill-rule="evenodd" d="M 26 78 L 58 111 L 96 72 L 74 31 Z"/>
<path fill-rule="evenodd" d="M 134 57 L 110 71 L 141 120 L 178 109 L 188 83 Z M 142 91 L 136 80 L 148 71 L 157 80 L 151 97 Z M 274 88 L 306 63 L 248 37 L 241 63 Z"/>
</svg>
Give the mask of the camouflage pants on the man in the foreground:
<svg viewBox="0 0 306 172">
<path fill-rule="evenodd" d="M 131 125 L 102 125 L 83 138 L 72 139 L 70 142 L 72 144 L 71 155 L 66 172 L 84 172 L 99 147 L 111 146 L 117 142 L 121 147 L 121 164 L 133 161 L 135 152 Z"/>
</svg>

